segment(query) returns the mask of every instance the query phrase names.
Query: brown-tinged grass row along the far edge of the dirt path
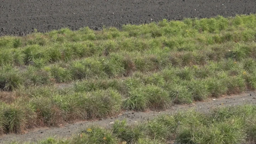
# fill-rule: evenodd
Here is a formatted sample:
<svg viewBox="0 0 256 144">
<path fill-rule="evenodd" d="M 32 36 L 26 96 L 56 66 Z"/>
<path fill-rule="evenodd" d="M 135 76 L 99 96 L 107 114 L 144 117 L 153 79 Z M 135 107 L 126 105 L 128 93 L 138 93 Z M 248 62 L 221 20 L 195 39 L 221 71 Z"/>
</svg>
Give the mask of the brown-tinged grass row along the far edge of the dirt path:
<svg viewBox="0 0 256 144">
<path fill-rule="evenodd" d="M 243 63 L 226 60 L 201 67 L 171 67 L 150 74 L 137 72 L 122 79 L 78 81 L 63 88 L 21 86 L 13 92 L 2 92 L 5 98 L 1 98 L 1 111 L 15 112 L 0 113 L 0 120 L 5 126 L 2 131 L 21 132 L 34 126 L 58 126 L 77 119 L 106 118 L 123 109 L 166 110 L 173 103 L 192 103 L 254 90 L 255 80 L 252 67 L 247 69 Z"/>
</svg>

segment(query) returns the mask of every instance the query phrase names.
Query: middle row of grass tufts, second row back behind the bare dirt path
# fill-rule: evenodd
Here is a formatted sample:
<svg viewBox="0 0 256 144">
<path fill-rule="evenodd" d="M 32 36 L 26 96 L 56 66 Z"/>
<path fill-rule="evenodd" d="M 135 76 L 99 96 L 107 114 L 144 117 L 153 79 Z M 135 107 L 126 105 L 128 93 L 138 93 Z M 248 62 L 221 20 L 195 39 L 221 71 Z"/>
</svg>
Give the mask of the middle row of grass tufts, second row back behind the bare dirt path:
<svg viewBox="0 0 256 144">
<path fill-rule="evenodd" d="M 43 62 L 28 66 L 13 66 L 10 64 L 0 67 L 0 89 L 12 91 L 19 85 L 31 86 L 55 82 L 72 82 L 76 80 L 120 78 L 130 76 L 134 71 L 150 73 L 165 68 L 184 68 L 178 74 L 182 79 L 189 80 L 189 67 L 200 67 L 197 77 L 206 77 L 207 73 L 218 70 L 210 68 L 209 64 L 216 63 L 220 69 L 231 70 L 237 74 L 238 66 L 232 63 L 241 62 L 248 70 L 254 69 L 256 44 L 231 44 L 234 50 L 225 50 L 222 45 L 211 47 L 211 50 L 196 50 L 193 52 L 166 52 L 165 49 L 146 51 L 142 53 L 112 53 L 105 57 L 90 57 L 70 62 L 58 62 L 43 66 Z M 225 50 L 225 52 L 223 51 Z M 222 51 L 222 52 L 220 52 Z M 228 62 L 226 62 L 228 61 Z M 223 64 L 223 63 L 226 63 Z M 230 64 L 231 63 L 231 64 Z M 206 68 L 201 68 L 206 66 Z M 241 67 L 241 66 L 240 66 Z M 251 72 L 250 70 L 249 72 Z"/>
</svg>

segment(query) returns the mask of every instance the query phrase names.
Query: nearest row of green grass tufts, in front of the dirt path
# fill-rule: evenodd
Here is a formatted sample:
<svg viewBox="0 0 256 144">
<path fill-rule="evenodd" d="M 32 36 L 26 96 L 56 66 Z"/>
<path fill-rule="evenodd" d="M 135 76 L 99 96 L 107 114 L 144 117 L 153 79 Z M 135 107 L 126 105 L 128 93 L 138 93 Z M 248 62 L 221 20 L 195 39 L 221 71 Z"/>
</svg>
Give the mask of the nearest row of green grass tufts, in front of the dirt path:
<svg viewBox="0 0 256 144">
<path fill-rule="evenodd" d="M 193 109 L 162 114 L 145 122 L 128 125 L 115 121 L 111 129 L 90 126 L 68 139 L 40 144 L 238 144 L 256 141 L 254 105 L 212 108 L 207 113 Z M 18 144 L 18 143 L 16 143 Z M 29 143 L 27 143 L 29 144 Z M 32 144 L 32 143 L 31 143 Z"/>
</svg>

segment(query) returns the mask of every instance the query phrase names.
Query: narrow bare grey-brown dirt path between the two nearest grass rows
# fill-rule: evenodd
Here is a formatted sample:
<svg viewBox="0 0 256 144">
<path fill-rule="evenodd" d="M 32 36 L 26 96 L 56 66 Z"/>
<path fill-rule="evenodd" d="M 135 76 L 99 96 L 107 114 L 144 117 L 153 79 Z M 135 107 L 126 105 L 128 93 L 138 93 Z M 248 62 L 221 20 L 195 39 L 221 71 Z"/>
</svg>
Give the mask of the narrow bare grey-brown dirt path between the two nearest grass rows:
<svg viewBox="0 0 256 144">
<path fill-rule="evenodd" d="M 171 114 L 177 111 L 186 110 L 188 108 L 195 108 L 199 112 L 208 112 L 213 107 L 223 107 L 223 106 L 236 106 L 244 104 L 256 104 L 256 94 L 255 92 L 249 91 L 241 95 L 227 96 L 222 98 L 213 98 L 209 99 L 206 102 L 194 102 L 191 105 L 174 105 L 170 110 L 162 112 L 134 112 L 134 111 L 124 111 L 120 114 L 117 114 L 116 117 L 100 119 L 96 121 L 84 121 L 77 122 L 72 124 L 66 124 L 65 126 L 58 128 L 40 128 L 29 130 L 28 133 L 24 134 L 7 134 L 0 136 L 0 144 L 5 144 L 13 140 L 24 142 L 24 141 L 36 141 L 41 139 L 46 139 L 48 137 L 56 138 L 68 138 L 74 134 L 80 133 L 82 130 L 90 127 L 92 124 L 96 124 L 102 127 L 111 128 L 114 120 L 127 119 L 128 124 L 135 124 L 137 122 L 145 121 L 148 118 L 154 118 L 159 114 Z"/>
</svg>

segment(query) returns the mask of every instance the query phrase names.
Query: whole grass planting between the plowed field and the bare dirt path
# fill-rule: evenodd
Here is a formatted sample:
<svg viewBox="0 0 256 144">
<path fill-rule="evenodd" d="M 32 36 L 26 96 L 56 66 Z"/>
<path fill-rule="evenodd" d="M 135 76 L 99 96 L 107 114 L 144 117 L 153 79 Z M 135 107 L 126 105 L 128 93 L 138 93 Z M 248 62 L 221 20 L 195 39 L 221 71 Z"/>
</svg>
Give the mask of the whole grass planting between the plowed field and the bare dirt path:
<svg viewBox="0 0 256 144">
<path fill-rule="evenodd" d="M 255 41 L 256 15 L 0 37 L 0 133 L 254 90 Z"/>
</svg>

